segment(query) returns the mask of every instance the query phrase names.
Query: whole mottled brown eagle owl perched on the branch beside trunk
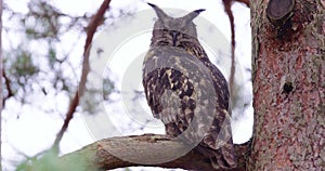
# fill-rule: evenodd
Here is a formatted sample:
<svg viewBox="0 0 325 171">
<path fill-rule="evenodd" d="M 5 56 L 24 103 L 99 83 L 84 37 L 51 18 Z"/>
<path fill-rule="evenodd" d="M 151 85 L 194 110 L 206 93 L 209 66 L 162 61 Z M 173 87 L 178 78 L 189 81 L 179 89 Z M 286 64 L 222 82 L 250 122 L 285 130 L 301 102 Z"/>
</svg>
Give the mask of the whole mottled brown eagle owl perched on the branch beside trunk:
<svg viewBox="0 0 325 171">
<path fill-rule="evenodd" d="M 193 23 L 204 10 L 174 18 L 148 4 L 158 18 L 143 62 L 143 87 L 154 117 L 167 135 L 198 141 L 195 149 L 214 168 L 234 168 L 227 82 L 209 61 Z"/>
</svg>

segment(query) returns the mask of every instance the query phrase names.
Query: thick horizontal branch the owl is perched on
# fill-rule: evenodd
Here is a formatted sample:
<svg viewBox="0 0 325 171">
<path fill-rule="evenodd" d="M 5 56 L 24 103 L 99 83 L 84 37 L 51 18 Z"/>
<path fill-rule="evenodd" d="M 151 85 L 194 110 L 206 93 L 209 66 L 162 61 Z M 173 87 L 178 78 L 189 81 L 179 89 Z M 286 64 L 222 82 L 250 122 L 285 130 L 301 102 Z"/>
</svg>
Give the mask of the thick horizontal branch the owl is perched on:
<svg viewBox="0 0 325 171">
<path fill-rule="evenodd" d="M 238 167 L 232 169 L 245 170 L 246 156 L 249 149 L 249 142 L 235 145 L 235 153 Z M 160 167 L 160 168 L 182 168 L 186 170 L 212 170 L 209 158 L 196 150 L 191 150 L 186 155 L 165 163 L 143 165 L 132 163 L 115 157 L 108 152 L 118 152 L 128 158 L 139 160 L 152 160 L 155 157 L 169 156 L 174 152 L 184 148 L 180 142 L 171 141 L 166 135 L 144 134 L 122 137 L 110 137 L 101 140 L 74 153 L 60 157 L 57 166 L 66 170 L 110 170 L 125 167 Z"/>
</svg>

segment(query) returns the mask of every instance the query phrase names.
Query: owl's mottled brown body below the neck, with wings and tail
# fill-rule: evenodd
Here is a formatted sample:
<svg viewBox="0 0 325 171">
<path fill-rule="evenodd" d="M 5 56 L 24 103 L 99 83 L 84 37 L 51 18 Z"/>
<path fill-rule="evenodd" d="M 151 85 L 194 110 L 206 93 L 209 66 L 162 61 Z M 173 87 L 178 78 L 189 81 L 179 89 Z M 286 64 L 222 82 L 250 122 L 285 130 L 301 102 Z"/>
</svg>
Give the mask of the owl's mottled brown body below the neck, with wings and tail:
<svg viewBox="0 0 325 171">
<path fill-rule="evenodd" d="M 190 144 L 200 142 L 199 152 L 231 168 L 236 160 L 225 79 L 216 67 L 202 65 L 186 52 L 166 52 L 159 48 L 144 61 L 143 86 L 154 117 L 161 119 L 168 135 L 182 134 Z"/>
</svg>

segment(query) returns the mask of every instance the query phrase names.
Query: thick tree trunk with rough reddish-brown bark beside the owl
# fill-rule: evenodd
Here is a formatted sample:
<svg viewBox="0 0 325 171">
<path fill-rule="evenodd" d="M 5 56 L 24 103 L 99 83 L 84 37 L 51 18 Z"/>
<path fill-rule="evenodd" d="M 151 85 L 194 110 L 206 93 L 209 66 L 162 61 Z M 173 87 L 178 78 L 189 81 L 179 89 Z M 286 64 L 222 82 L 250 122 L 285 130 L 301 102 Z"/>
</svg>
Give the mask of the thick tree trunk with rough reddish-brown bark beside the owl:
<svg viewBox="0 0 325 171">
<path fill-rule="evenodd" d="M 250 1 L 255 126 L 248 170 L 325 168 L 325 2 L 296 0 L 283 27 Z"/>
</svg>

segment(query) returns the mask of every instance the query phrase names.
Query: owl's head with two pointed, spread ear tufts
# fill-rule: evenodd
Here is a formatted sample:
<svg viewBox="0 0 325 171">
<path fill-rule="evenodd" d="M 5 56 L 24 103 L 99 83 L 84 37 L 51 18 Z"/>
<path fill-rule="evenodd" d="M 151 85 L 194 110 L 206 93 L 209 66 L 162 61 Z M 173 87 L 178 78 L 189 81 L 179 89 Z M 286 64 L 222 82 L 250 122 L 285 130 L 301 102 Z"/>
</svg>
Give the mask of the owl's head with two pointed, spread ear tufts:
<svg viewBox="0 0 325 171">
<path fill-rule="evenodd" d="M 156 31 L 164 31 L 165 38 L 170 38 L 172 40 L 173 45 L 176 45 L 177 41 L 182 37 L 192 37 L 192 38 L 197 38 L 196 34 L 196 27 L 195 24 L 193 23 L 193 19 L 203 11 L 200 10 L 195 10 L 185 16 L 182 17 L 171 17 L 168 16 L 160 8 L 158 8 L 155 4 L 148 3 L 151 5 L 157 16 L 158 19 L 155 23 L 154 26 L 154 36 L 155 36 L 155 30 Z M 160 34 L 160 36 L 161 36 Z"/>
</svg>

